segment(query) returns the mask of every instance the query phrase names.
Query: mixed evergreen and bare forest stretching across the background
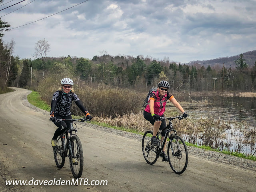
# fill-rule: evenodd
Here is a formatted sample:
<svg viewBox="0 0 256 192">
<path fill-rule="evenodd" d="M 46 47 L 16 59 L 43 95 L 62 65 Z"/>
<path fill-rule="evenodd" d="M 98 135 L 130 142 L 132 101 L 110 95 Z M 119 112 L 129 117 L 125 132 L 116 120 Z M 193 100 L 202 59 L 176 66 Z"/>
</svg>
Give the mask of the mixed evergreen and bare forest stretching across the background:
<svg viewBox="0 0 256 192">
<path fill-rule="evenodd" d="M 256 88 L 256 61 L 248 67 L 246 58 L 240 54 L 234 60 L 234 68 L 222 65 L 211 67 L 200 63 L 181 64 L 165 57 L 156 60 L 150 56 L 110 56 L 100 52 L 92 59 L 83 57 L 41 57 L 20 59 L 12 56 L 13 42 L 3 44 L 0 40 L 1 88 L 16 86 L 36 90 L 40 81 L 56 76 L 56 71 L 85 83 L 100 83 L 120 88 L 147 90 L 159 80 L 170 82 L 175 92 L 254 92 Z M 62 73 L 59 72 L 58 74 Z M 62 78 L 62 77 L 60 77 Z M 57 81 L 60 79 L 56 79 Z"/>
</svg>

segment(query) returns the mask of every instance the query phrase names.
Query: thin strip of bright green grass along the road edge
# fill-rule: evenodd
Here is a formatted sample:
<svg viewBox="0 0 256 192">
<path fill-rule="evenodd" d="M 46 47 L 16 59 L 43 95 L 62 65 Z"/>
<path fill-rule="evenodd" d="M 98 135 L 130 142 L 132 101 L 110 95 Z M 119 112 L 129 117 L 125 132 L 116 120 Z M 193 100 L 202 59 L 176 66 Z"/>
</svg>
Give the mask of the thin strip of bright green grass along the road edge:
<svg viewBox="0 0 256 192">
<path fill-rule="evenodd" d="M 39 93 L 36 92 L 36 91 L 33 91 L 33 90 L 32 90 L 32 93 L 30 93 L 28 95 L 28 102 L 30 102 L 32 105 L 34 105 L 38 108 L 41 108 L 43 110 L 46 110 L 49 107 L 49 105 L 40 98 Z M 50 112 L 50 108 L 48 108 L 47 111 Z M 172 115 L 174 115 L 174 114 L 172 114 Z M 81 118 L 81 116 L 73 116 L 72 115 L 72 118 Z M 96 119 L 100 120 L 101 118 L 97 117 Z M 131 132 L 131 133 L 135 133 L 135 134 L 144 135 L 144 132 L 143 132 L 144 130 L 140 131 L 140 130 L 136 130 L 136 129 L 132 129 L 132 128 L 127 128 L 125 126 L 113 126 L 110 123 L 99 122 L 99 121 L 96 121 L 96 120 L 92 120 L 91 123 L 96 124 L 98 126 L 104 126 L 104 127 L 113 128 L 113 129 L 116 129 L 116 130 L 123 130 L 123 131 L 126 131 L 126 132 Z M 198 146 L 197 144 L 192 144 L 192 143 L 189 143 L 189 142 L 186 142 L 186 145 L 187 146 L 193 146 L 193 147 L 196 147 L 196 148 L 202 148 L 202 149 L 205 149 L 205 150 L 216 151 L 216 152 L 220 152 L 220 153 L 223 153 L 223 154 L 228 154 L 228 155 L 237 156 L 237 157 L 240 157 L 240 158 L 245 158 L 245 159 L 256 161 L 256 156 L 252 156 L 252 155 L 246 155 L 246 154 L 243 154 L 243 153 L 238 153 L 238 152 L 233 152 L 233 151 L 228 151 L 228 150 L 222 150 L 221 151 L 219 149 L 214 149 L 210 146 L 206 146 L 206 145 Z"/>
</svg>

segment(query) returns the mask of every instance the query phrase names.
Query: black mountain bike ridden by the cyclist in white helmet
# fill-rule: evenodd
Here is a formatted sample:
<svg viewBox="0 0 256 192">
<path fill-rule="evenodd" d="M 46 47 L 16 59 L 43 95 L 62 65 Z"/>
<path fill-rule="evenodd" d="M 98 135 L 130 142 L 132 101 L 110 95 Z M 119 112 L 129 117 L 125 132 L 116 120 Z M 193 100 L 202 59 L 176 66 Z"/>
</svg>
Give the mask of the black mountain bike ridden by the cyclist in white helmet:
<svg viewBox="0 0 256 192">
<path fill-rule="evenodd" d="M 56 122 L 70 123 L 70 128 L 58 136 L 58 148 L 53 149 L 53 154 L 58 168 L 62 168 L 65 164 L 65 158 L 69 157 L 70 168 L 74 178 L 80 178 L 84 169 L 84 154 L 81 141 L 77 136 L 77 128 L 74 123 L 75 121 L 86 122 L 87 120 L 85 117 L 80 119 L 56 120 Z"/>
</svg>

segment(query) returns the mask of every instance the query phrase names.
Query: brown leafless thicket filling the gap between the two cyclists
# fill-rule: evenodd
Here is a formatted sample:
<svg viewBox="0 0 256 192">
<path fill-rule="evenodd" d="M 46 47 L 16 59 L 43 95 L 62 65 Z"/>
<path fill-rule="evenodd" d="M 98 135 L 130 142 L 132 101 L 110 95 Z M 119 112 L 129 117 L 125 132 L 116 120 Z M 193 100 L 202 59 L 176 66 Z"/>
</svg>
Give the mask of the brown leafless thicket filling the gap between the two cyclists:
<svg viewBox="0 0 256 192">
<path fill-rule="evenodd" d="M 104 118 L 137 113 L 144 100 L 139 92 L 104 84 L 92 86 L 82 82 L 76 93 L 91 114 Z"/>
</svg>

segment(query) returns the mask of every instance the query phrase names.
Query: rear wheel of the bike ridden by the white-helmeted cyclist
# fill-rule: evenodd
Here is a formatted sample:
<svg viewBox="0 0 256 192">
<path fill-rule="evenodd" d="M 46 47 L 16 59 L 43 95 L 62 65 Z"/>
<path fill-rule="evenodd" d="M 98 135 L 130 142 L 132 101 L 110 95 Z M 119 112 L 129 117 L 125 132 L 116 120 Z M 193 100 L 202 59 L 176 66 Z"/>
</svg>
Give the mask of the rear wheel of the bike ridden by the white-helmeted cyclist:
<svg viewBox="0 0 256 192">
<path fill-rule="evenodd" d="M 65 158 L 66 158 L 66 156 L 64 155 L 64 138 L 62 138 L 62 135 L 58 136 L 57 142 L 58 142 L 59 148 L 53 149 L 54 161 L 58 168 L 62 168 L 65 164 Z"/>
</svg>

